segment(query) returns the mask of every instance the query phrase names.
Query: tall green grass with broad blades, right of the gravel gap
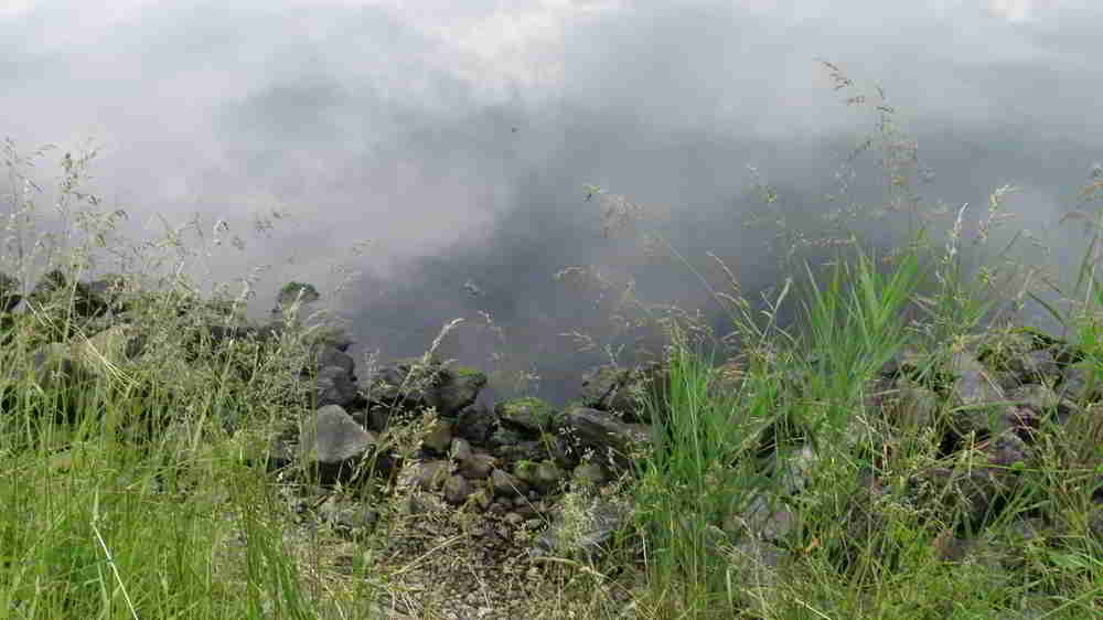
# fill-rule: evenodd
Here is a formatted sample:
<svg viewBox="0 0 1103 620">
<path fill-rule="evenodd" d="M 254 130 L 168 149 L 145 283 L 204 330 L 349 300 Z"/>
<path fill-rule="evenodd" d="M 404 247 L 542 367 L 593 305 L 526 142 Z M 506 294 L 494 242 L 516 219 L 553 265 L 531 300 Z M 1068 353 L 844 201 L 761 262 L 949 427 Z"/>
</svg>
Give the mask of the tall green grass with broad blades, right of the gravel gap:
<svg viewBox="0 0 1103 620">
<path fill-rule="evenodd" d="M 837 65 L 823 64 L 836 88 L 854 85 Z M 658 420 L 655 449 L 641 462 L 635 485 L 635 530 L 644 549 L 646 580 L 636 595 L 639 609 L 647 610 L 644 617 L 1000 617 L 1024 607 L 1043 609 L 1051 618 L 1097 612 L 1103 565 L 1090 559 L 1099 556 L 1097 539 L 1077 537 L 1059 554 L 1061 559 L 1043 559 L 1045 553 L 1030 547 L 1030 559 L 1022 562 L 1034 568 L 1027 571 L 947 563 L 943 552 L 951 523 L 920 514 L 892 494 L 863 494 L 870 472 L 902 481 L 940 459 L 931 438 L 922 435 L 927 430 L 920 428 L 892 429 L 898 449 L 884 451 L 881 442 L 889 429 L 867 415 L 871 411 L 866 403 L 876 389 L 878 373 L 898 352 L 915 351 L 933 370 L 940 356 L 961 351 L 966 336 L 1009 321 L 1034 299 L 1077 333 L 1081 350 L 1090 352 L 1084 363 L 1094 376 L 1101 367 L 1092 352 L 1099 350 L 1097 309 L 1103 307 L 1095 277 L 1103 227 L 1095 229 L 1073 287 L 1080 310 L 1061 316 L 1036 292 L 1039 284 L 1059 287 L 1040 267 L 1011 256 L 1020 242 L 1034 239 L 1024 233 L 1005 239 L 996 234 L 1009 220 L 1003 200 L 1014 188 L 993 192 L 976 234 L 965 239 L 967 204 L 924 210 L 911 191 L 912 173 L 925 179 L 930 174 L 919 164 L 918 147 L 896 128 L 896 110 L 887 105 L 884 90 L 877 93 L 875 111 L 889 200 L 874 209 L 872 215 L 903 224 L 906 234 L 898 249 L 885 257 L 863 252 L 860 222 L 870 215 L 866 205 L 850 202 L 828 212 L 827 233 L 815 236 L 786 218 L 780 211 L 779 193 L 760 183 L 768 211 L 758 223 L 780 227 L 774 238 L 781 243 L 775 249 L 780 261 L 794 271 L 779 284 L 774 298 L 759 304 L 764 306 L 762 310 L 742 296 L 732 272 L 715 255 L 710 254 L 728 276 L 731 293 L 716 291 L 676 248 L 650 231 L 643 223 L 645 207 L 587 186 L 588 200 L 598 197 L 607 235 L 624 228 L 640 232 L 645 253 L 658 248 L 682 263 L 728 310 L 733 330 L 721 343 L 729 350 L 736 344 L 742 363 L 737 387 L 717 396 L 709 389 L 716 349 L 705 354 L 698 338 L 709 331 L 693 324 L 688 313 L 677 314 L 689 319 L 688 324 L 679 323 L 673 312 L 661 317 L 655 312 L 658 307 L 631 300 L 644 321 L 664 325 L 671 342 L 665 355 L 670 368 L 665 396 L 649 399 L 652 418 Z M 863 95 L 846 100 L 848 105 L 866 101 Z M 828 202 L 844 197 L 853 178 L 849 165 L 875 142 L 870 138 L 855 149 L 837 174 L 843 191 L 828 196 Z M 758 178 L 758 171 L 752 172 Z M 945 218 L 942 246 L 932 243 L 940 218 Z M 988 254 L 987 247 L 997 239 L 1002 247 Z M 827 259 L 826 269 L 811 263 L 813 258 Z M 782 329 L 778 310 L 794 291 L 803 308 L 801 320 Z M 632 292 L 625 288 L 625 297 Z M 572 335 L 587 346 L 598 345 L 585 334 Z M 1090 415 L 1080 418 L 1089 426 L 1091 419 Z M 1099 462 L 1101 448 L 1097 428 L 1081 432 L 1089 439 L 1070 435 L 1054 440 L 1056 451 L 1035 466 L 1026 490 L 1010 501 L 987 536 L 1009 535 L 1015 516 L 1036 514 L 1042 505 L 1046 514 L 1065 515 L 1068 531 L 1086 530 L 1094 509 L 1088 499 L 1092 485 L 1082 477 L 1097 475 L 1097 468 L 1086 463 Z M 814 470 L 801 473 L 805 488 L 799 502 L 779 503 L 778 472 L 767 478 L 753 466 L 753 457 L 762 455 L 763 437 L 771 439 L 769 448 L 780 455 L 777 461 L 799 464 L 789 457 L 793 452 L 813 458 Z M 808 448 L 811 452 L 805 451 Z M 963 460 L 959 467 L 968 467 L 971 455 L 965 450 L 956 457 Z M 1060 479 L 1077 482 L 1059 484 Z M 733 515 L 738 522 L 751 502 L 762 499 L 771 509 L 797 514 L 800 528 L 790 538 L 792 546 L 783 550 L 786 560 L 749 565 L 747 558 L 754 555 L 758 544 L 743 530 L 726 525 Z M 881 519 L 876 528 L 852 539 L 855 532 L 846 524 L 861 523 L 861 514 L 875 511 Z M 1056 563 L 1063 563 L 1057 570 L 1060 578 L 1046 573 Z"/>
</svg>

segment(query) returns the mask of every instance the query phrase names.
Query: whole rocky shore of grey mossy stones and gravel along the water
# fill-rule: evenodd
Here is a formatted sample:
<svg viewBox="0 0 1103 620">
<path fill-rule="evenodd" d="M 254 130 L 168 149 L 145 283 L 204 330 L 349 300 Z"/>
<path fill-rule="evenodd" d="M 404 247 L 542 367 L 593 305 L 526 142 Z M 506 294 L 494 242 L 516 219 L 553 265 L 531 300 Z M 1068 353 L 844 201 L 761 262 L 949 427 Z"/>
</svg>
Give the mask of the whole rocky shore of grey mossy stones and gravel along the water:
<svg viewBox="0 0 1103 620">
<path fill-rule="evenodd" d="M 75 291 L 72 311 L 79 320 L 71 321 L 67 331 L 61 323 L 42 330 L 50 335 L 33 352 L 34 381 L 87 385 L 111 365 L 141 360 L 148 342 L 127 320 L 135 300 L 117 285 L 74 284 L 55 272 L 24 300 L 14 292 L 14 278 L 0 274 L 4 329 L 44 312 L 56 292 Z M 287 301 L 286 295 L 281 300 Z M 24 309 L 17 312 L 21 301 Z M 235 341 L 255 343 L 263 355 L 283 330 L 278 322 L 229 324 L 221 320 L 228 317 L 225 306 L 180 308 L 204 316 L 200 323 L 205 328 L 197 332 L 204 335 L 191 343 L 194 355 L 202 346 L 216 350 Z M 395 554 L 417 557 L 462 534 L 454 543 L 457 557 L 465 558 L 462 567 L 429 562 L 409 575 L 453 592 L 457 618 L 513 617 L 524 588 L 495 594 L 488 584 L 503 575 L 524 581 L 546 558 L 600 554 L 614 536 L 631 531 L 631 498 L 615 490 L 649 458 L 661 432 L 663 420 L 653 415 L 664 414 L 654 414 L 645 402 L 662 399 L 667 377 L 662 364 L 591 368 L 579 377 L 577 398 L 563 408 L 532 397 L 488 406 L 475 404 L 488 382 L 478 368 L 427 355 L 395 361 L 368 375 L 347 354 L 350 344 L 340 333 L 311 342 L 312 362 L 301 374 L 309 385 L 306 397 L 288 403 L 297 413 L 256 457 L 300 526 L 325 524 L 355 544 L 392 514 L 383 502 L 389 498 L 398 500 L 397 510 L 414 517 L 421 533 L 417 538 L 395 536 Z M 243 376 L 250 372 L 240 371 Z M 799 389 L 797 374 L 779 372 Z M 709 389 L 754 388 L 745 385 L 738 361 L 715 368 L 713 376 Z M 25 378 L 0 374 L 0 381 L 12 383 Z M 868 382 L 864 394 L 864 407 L 855 411 L 844 441 L 847 451 L 874 464 L 854 481 L 843 523 L 847 535 L 824 542 L 833 546 L 840 570 L 859 549 L 877 547 L 890 505 L 952 524 L 932 549 L 947 562 L 1014 558 L 1014 547 L 983 534 L 1020 492 L 1024 472 L 1054 442 L 1073 461 L 1078 455 L 1088 459 L 1075 464 L 1097 478 L 1101 463 L 1091 459 L 1103 442 L 1096 405 L 1103 386 L 1084 352 L 1069 342 L 1013 329 L 934 353 L 903 352 Z M 4 403 L 9 408 L 13 402 Z M 771 426 L 745 456 L 756 459 L 775 483 L 746 510 L 709 525 L 715 544 L 731 549 L 732 562 L 769 575 L 799 553 L 799 500 L 826 458 L 807 431 Z M 902 449 L 904 435 L 927 438 L 943 464 L 909 472 L 899 484 L 877 463 Z M 967 467 L 960 464 L 966 461 Z M 1039 502 L 1037 510 L 1015 517 L 1022 539 L 1103 541 L 1103 479 L 1096 483 L 1092 517 L 1083 531 L 1062 530 L 1068 525 Z M 464 592 L 480 594 L 470 598 Z"/>
</svg>

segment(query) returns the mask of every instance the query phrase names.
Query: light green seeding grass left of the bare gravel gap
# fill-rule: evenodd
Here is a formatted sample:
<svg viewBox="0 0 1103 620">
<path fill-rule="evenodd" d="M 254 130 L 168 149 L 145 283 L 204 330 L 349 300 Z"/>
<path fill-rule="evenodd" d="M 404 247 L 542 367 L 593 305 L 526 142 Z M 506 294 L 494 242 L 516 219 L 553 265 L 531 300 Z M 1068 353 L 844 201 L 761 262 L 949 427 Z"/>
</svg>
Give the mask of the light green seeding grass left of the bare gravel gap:
<svg viewBox="0 0 1103 620">
<path fill-rule="evenodd" d="M 30 169 L 51 150 L 25 157 L 4 142 L 12 191 L 0 270 L 29 286 L 53 269 L 55 286 L 3 317 L 0 467 L 11 475 L 0 502 L 11 510 L 0 519 L 0 609 L 25 618 L 318 618 L 322 591 L 287 545 L 292 517 L 263 469 L 269 434 L 298 415 L 286 403 L 308 394 L 300 375 L 317 334 L 289 321 L 265 346 L 206 341 L 206 325 L 244 323 L 258 275 L 237 296 L 223 289 L 202 302 L 179 275 L 192 256 L 180 231 L 125 250 L 115 225 L 126 213 L 100 212 L 85 186 L 95 149 L 62 157 L 52 200 L 62 235 L 36 232 L 46 192 Z M 126 311 L 86 317 L 78 282 L 105 254 L 147 271 L 111 278 Z M 175 275 L 157 275 L 165 265 Z M 35 356 L 47 343 L 86 342 L 124 321 L 131 340 L 140 336 L 141 357 L 100 351 L 82 363 L 103 372 L 66 362 L 43 374 Z"/>
</svg>

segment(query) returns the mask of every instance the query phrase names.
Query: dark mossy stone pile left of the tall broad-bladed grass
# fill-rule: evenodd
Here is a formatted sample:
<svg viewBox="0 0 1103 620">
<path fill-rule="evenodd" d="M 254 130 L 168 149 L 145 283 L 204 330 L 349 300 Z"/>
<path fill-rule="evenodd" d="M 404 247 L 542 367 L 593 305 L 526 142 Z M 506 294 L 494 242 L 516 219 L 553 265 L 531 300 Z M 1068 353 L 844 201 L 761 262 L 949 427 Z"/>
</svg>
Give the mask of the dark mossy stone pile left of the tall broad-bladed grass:
<svg viewBox="0 0 1103 620">
<path fill-rule="evenodd" d="M 72 282 L 53 271 L 26 299 L 17 292 L 18 286 L 14 278 L 0 274 L 0 300 L 6 311 L 0 317 L 10 323 L 15 317 L 11 311 L 23 301 L 24 318 L 47 321 L 50 329 L 43 330 L 47 341 L 34 349 L 30 365 L 31 378 L 44 388 L 56 388 L 63 382 L 78 391 L 111 365 L 140 360 L 146 352 L 146 338 L 130 321 L 138 300 L 127 293 L 121 278 Z M 280 293 L 278 306 L 293 299 L 289 288 L 291 285 Z M 317 299 L 312 287 L 304 292 L 304 301 Z M 58 302 L 66 298 L 73 298 L 74 303 Z M 214 352 L 232 341 L 251 341 L 264 348 L 276 342 L 283 329 L 279 321 L 227 324 L 228 309 L 218 304 L 181 300 L 176 307 L 180 316 L 206 312 L 207 322 L 189 341 L 189 360 L 204 343 Z M 596 407 L 565 411 L 538 398 L 517 398 L 492 408 L 476 406 L 486 375 L 437 359 L 398 361 L 361 385 L 355 361 L 347 354 L 351 344 L 340 334 L 312 344 L 313 364 L 303 373 L 312 384 L 311 398 L 300 403 L 310 413 L 274 440 L 267 457 L 280 480 L 347 489 L 368 479 L 383 479 L 400 482 L 426 498 L 438 496 L 447 505 L 473 507 L 503 523 L 543 527 L 554 519 L 554 498 L 572 480 L 601 484 L 631 469 L 632 459 L 650 441 L 646 424 L 601 410 L 604 405 L 600 402 L 593 403 Z M 14 384 L 28 377 L 0 378 Z M 13 406 L 12 393 L 4 395 L 7 406 Z M 387 435 L 422 424 L 427 411 L 436 414 L 431 426 L 425 429 L 418 452 L 404 461 L 388 446 Z M 367 523 L 361 519 L 364 506 L 333 510 L 332 503 L 310 503 L 326 506 L 323 517 L 351 519 L 349 523 L 357 527 Z M 608 506 L 598 512 L 608 513 Z M 603 524 L 599 531 L 609 534 L 609 520 L 599 521 Z M 602 539 L 590 538 L 593 544 Z M 544 547 L 549 547 L 547 541 L 545 537 Z"/>
</svg>

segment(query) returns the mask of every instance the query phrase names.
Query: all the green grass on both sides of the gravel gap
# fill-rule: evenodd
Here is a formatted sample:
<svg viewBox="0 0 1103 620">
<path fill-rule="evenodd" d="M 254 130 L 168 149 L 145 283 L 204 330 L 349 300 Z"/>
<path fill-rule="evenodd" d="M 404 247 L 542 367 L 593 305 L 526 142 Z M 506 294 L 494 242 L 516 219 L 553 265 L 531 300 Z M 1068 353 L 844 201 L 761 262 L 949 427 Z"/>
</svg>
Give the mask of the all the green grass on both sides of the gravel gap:
<svg viewBox="0 0 1103 620">
<path fill-rule="evenodd" d="M 825 66 L 836 85 L 853 85 L 838 67 Z M 670 374 L 645 400 L 655 420 L 654 449 L 640 455 L 635 471 L 612 487 L 632 499 L 633 520 L 607 555 L 559 558 L 542 573 L 545 596 L 527 601 L 526 617 L 897 620 L 1100 613 L 1103 548 L 1086 535 L 1099 514 L 1092 493 L 1103 475 L 1097 415 L 1081 416 L 1046 437 L 1040 457 L 1019 466 L 1019 491 L 981 534 L 993 553 L 955 562 L 940 553 L 955 522 L 917 510 L 898 492 L 925 468 L 968 466 L 970 452 L 940 455 L 921 426 L 887 426 L 868 403 L 879 396 L 879 371 L 898 354 L 910 352 L 927 361 L 924 371 L 933 370 L 968 336 L 1010 322 L 1010 312 L 1031 299 L 1065 325 L 1089 375 L 1103 374 L 1103 288 L 1096 276 L 1103 220 L 1090 220 L 1096 226 L 1069 285 L 1009 263 L 1020 237 L 999 237 L 996 229 L 1006 189 L 993 193 L 982 217 L 985 243 L 964 244 L 965 209 L 950 210 L 944 224 L 920 210 L 909 185 L 914 171 L 909 142 L 892 125 L 891 108 L 881 101 L 875 113 L 880 142 L 863 142 L 855 156 L 875 143 L 886 153 L 886 211 L 900 231 L 900 252 L 864 250 L 864 214 L 856 209 L 826 213 L 829 226 L 816 234 L 773 217 L 783 227 L 779 256 L 792 270 L 761 311 L 741 295 L 726 266 L 730 292 L 716 290 L 661 235 L 645 237 L 649 249 L 665 247 L 729 310 L 733 338 L 725 342 L 738 343 L 739 356 L 726 366 L 730 373 L 719 376 L 720 346 L 707 330 L 676 309 L 663 316 L 635 302 L 642 319 L 668 335 L 663 359 Z M 4 154 L 10 186 L 30 188 L 21 175 L 32 160 L 11 142 Z M 9 264 L 0 261 L 0 270 L 29 281 L 35 267 L 49 265 L 84 279 L 95 257 L 119 247 L 113 240 L 118 212 L 99 212 L 99 202 L 82 185 L 90 160 L 90 154 L 62 160 L 57 204 L 73 231 L 58 243 L 31 243 L 38 194 L 11 196 L 19 243 L 4 248 Z M 1101 186 L 1095 183 L 1085 196 Z M 765 209 L 781 213 L 779 194 L 759 189 Z M 611 223 L 607 233 L 643 213 L 623 196 L 598 188 L 591 194 Z M 77 228 L 83 245 L 75 240 Z M 945 243 L 932 240 L 943 235 Z M 983 254 L 997 239 L 1002 249 Z M 223 295 L 199 321 L 190 301 L 194 287 L 164 274 L 183 272 L 202 253 L 188 250 L 175 234 L 142 249 L 146 254 L 135 252 L 140 259 L 132 261 L 133 270 L 124 274 L 142 291 L 132 324 L 149 353 L 139 363 L 105 355 L 96 361 L 106 370 L 92 376 L 35 376 L 39 346 L 58 334 L 79 339 L 98 329 L 74 312 L 75 278 L 54 304 L 7 317 L 2 325 L 0 617 L 367 618 L 374 616 L 366 601 L 379 595 L 425 596 L 406 595 L 403 578 L 426 557 L 447 554 L 446 546 L 394 566 L 371 544 L 350 552 L 349 543 L 324 530 L 304 534 L 292 503 L 265 470 L 270 437 L 307 410 L 298 374 L 321 332 L 292 318 L 272 348 L 238 343 L 202 350 L 182 363 L 188 343 L 201 338 L 199 323 L 234 324 L 255 282 L 237 296 L 219 289 Z M 1045 301 L 1031 288 L 1039 282 L 1074 300 L 1072 310 Z M 796 325 L 778 323 L 785 303 L 799 304 Z M 297 312 L 296 303 L 289 314 Z M 484 319 L 503 335 L 489 316 Z M 457 323 L 446 325 L 426 359 Z M 942 407 L 936 415 L 953 413 Z M 416 446 L 417 431 L 409 435 L 394 441 Z M 886 451 L 886 445 L 892 449 Z M 771 451 L 794 458 L 779 459 L 771 472 L 760 467 Z M 800 471 L 786 469 L 801 462 Z M 859 481 L 869 472 L 887 481 L 890 492 L 864 495 Z M 803 484 L 799 499 L 780 492 L 786 480 Z M 403 519 L 397 506 L 405 498 L 377 500 L 394 504 L 381 506 L 385 516 Z M 769 548 L 746 534 L 748 511 L 763 506 L 788 510 L 796 520 L 788 542 L 775 549 L 784 556 L 775 566 L 746 559 Z M 855 530 L 875 509 L 879 520 Z M 1045 542 L 1022 538 L 1013 517 L 1038 515 L 1049 520 L 1051 533 Z M 398 532 L 396 523 L 381 526 L 381 536 Z M 339 556 L 351 558 L 352 568 L 335 568 Z M 425 613 L 443 617 L 448 609 L 446 603 Z M 1035 614 L 1020 616 L 1025 610 Z"/>
</svg>

